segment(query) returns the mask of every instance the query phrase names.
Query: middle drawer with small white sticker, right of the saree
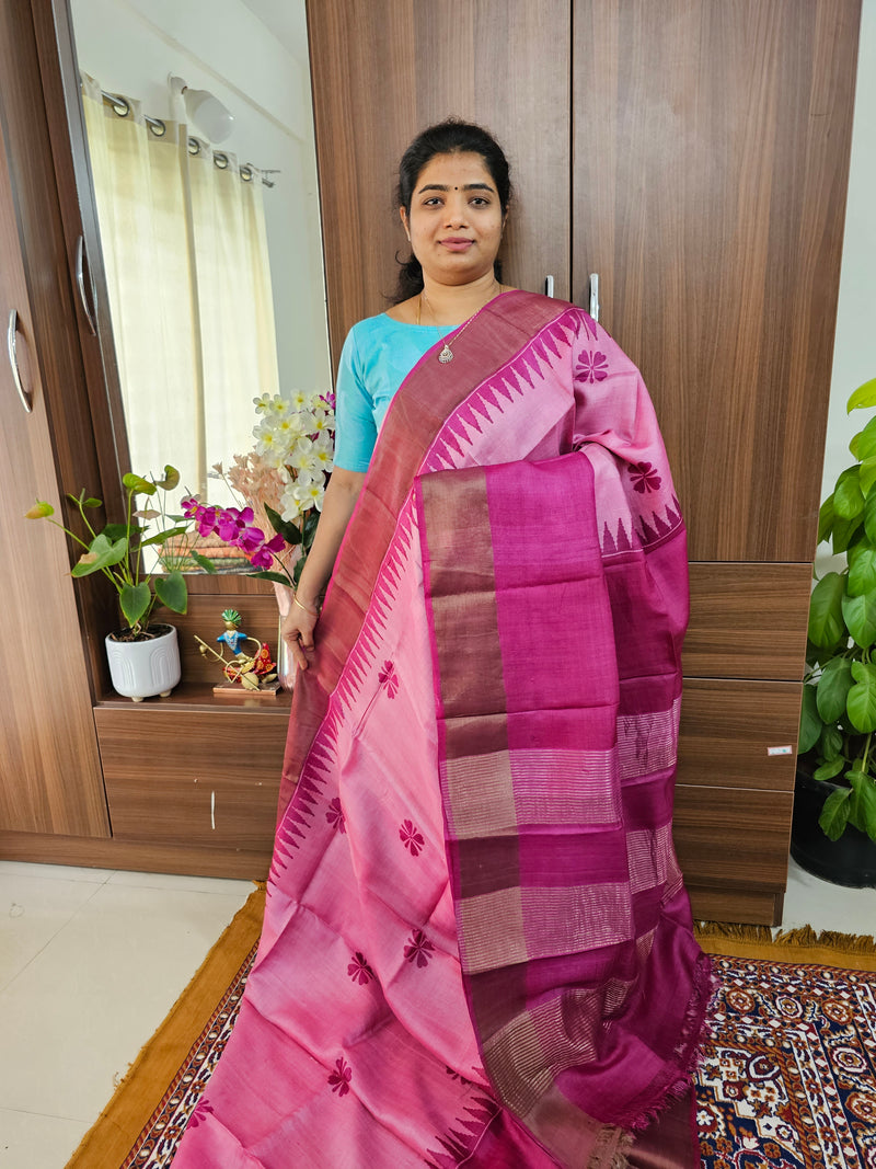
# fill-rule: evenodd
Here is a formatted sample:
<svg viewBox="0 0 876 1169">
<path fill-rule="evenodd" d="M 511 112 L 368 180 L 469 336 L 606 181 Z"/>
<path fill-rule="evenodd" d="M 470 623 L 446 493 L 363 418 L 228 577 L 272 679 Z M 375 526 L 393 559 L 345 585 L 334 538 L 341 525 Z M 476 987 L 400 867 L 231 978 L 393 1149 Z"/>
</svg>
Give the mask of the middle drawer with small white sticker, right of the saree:
<svg viewBox="0 0 876 1169">
<path fill-rule="evenodd" d="M 801 698 L 799 682 L 686 678 L 676 782 L 792 791 Z"/>
</svg>

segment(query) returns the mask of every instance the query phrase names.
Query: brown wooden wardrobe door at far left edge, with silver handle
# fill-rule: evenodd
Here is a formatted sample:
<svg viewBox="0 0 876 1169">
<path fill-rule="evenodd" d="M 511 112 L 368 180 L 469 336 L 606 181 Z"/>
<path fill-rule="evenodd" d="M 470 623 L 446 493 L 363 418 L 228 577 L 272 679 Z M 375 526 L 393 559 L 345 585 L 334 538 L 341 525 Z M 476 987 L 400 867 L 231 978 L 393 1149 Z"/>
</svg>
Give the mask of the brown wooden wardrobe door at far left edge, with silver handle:
<svg viewBox="0 0 876 1169">
<path fill-rule="evenodd" d="M 0 324 L 8 344 L 0 355 L 0 830 L 109 836 L 67 541 L 46 521 L 25 519 L 37 497 L 62 512 L 63 491 L 74 489 L 61 486 L 60 464 L 71 444 L 79 451 L 88 445 L 65 414 L 76 402 L 81 371 L 71 364 L 75 351 L 58 311 L 67 265 L 47 214 L 54 184 L 44 136 L 29 9 L 4 4 Z"/>
</svg>

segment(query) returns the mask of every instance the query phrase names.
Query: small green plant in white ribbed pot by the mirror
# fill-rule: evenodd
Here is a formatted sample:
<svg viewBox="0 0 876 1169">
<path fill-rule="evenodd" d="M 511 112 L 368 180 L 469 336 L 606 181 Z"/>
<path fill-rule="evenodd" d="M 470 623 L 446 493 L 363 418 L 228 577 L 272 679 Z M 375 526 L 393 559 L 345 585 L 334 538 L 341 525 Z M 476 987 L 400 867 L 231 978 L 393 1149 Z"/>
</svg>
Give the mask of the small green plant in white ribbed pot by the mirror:
<svg viewBox="0 0 876 1169">
<path fill-rule="evenodd" d="M 154 623 L 152 617 L 159 604 L 174 613 L 186 611 L 186 579 L 180 572 L 161 575 L 158 559 L 152 568 L 147 568 L 144 556 L 144 549 L 155 547 L 158 551 L 165 541 L 189 530 L 188 519 L 167 513 L 167 492 L 173 491 L 179 482 L 179 471 L 173 466 L 166 466 L 160 479 L 154 476 L 144 478 L 140 475 L 126 475 L 121 480 L 125 489 L 125 523 L 106 524 L 99 532 L 92 525 L 90 514 L 102 507 L 103 503 L 86 496 L 84 490 L 78 496 L 67 497 L 82 518 L 82 535 L 53 519 L 55 509 L 44 500 L 37 500 L 26 513 L 28 519 L 48 519 L 84 549 L 72 567 L 72 576 L 103 573 L 118 593 L 125 627 L 107 635 L 106 656 L 116 691 L 134 701 L 153 694 L 169 694 L 180 680 L 176 629 L 169 624 Z M 138 510 L 138 496 L 158 503 L 158 510 Z M 154 520 L 159 520 L 158 531 L 151 532 Z M 213 565 L 204 556 L 195 552 L 189 555 L 201 567 L 213 570 Z"/>
</svg>

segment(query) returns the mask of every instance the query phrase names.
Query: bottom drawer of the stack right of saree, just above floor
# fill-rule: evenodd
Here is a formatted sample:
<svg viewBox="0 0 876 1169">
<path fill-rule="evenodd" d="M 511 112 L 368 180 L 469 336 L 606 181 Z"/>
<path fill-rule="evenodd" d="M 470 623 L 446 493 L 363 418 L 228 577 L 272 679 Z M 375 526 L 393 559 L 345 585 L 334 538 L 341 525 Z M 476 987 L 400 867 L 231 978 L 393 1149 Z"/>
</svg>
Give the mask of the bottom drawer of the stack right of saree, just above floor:
<svg viewBox="0 0 876 1169">
<path fill-rule="evenodd" d="M 792 791 L 677 786 L 673 836 L 684 880 L 781 892 L 793 798 Z"/>
</svg>

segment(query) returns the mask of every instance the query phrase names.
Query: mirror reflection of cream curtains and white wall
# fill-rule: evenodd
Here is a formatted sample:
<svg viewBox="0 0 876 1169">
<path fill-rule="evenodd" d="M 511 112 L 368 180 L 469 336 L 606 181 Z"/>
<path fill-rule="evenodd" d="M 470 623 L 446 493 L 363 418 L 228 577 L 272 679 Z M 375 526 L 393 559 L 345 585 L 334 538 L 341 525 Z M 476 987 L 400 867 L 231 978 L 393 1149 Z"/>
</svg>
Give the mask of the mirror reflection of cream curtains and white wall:
<svg viewBox="0 0 876 1169">
<path fill-rule="evenodd" d="M 331 389 L 304 0 L 70 8 L 131 469 L 239 503 L 253 399 Z"/>
</svg>

